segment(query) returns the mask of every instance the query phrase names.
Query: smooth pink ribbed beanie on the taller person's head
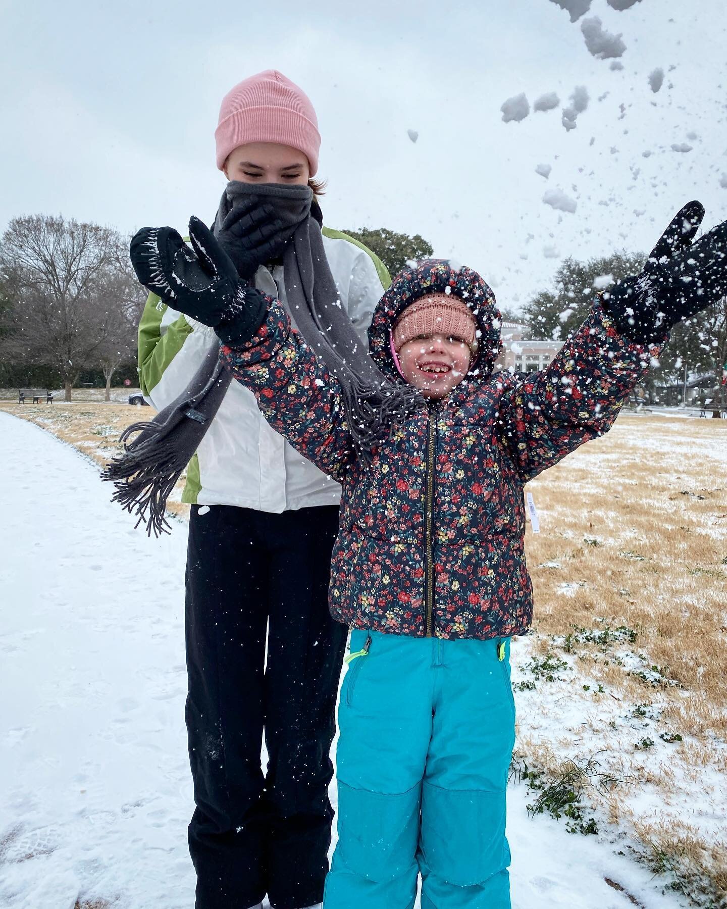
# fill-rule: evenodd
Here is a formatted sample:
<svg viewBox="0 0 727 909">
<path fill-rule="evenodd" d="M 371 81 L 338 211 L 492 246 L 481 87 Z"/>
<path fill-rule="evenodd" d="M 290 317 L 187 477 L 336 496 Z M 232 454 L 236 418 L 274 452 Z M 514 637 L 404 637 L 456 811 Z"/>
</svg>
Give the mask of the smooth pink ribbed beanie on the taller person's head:
<svg viewBox="0 0 727 909">
<path fill-rule="evenodd" d="M 227 155 L 248 142 L 290 145 L 306 155 L 311 176 L 318 170 L 321 136 L 313 105 L 276 69 L 251 75 L 224 95 L 214 141 L 220 170 Z"/>
</svg>

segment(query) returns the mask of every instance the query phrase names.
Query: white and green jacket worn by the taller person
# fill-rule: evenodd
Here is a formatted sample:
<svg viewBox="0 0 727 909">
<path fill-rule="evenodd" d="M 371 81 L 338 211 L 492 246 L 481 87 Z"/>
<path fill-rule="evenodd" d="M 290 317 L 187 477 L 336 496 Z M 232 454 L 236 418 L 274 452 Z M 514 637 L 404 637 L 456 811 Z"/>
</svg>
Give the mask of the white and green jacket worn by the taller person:
<svg viewBox="0 0 727 909">
<path fill-rule="evenodd" d="M 373 309 L 390 284 L 385 265 L 352 237 L 323 228 L 325 255 L 341 303 L 366 343 Z M 286 306 L 283 266 L 261 266 L 255 286 Z M 292 314 L 291 314 L 292 315 Z M 293 319 L 294 321 L 294 319 Z M 212 345 L 214 330 L 150 294 L 139 324 L 139 378 L 157 408 L 174 401 Z M 309 505 L 338 504 L 341 487 L 264 421 L 254 395 L 233 382 L 187 468 L 182 501 L 225 504 L 280 513 Z"/>
</svg>

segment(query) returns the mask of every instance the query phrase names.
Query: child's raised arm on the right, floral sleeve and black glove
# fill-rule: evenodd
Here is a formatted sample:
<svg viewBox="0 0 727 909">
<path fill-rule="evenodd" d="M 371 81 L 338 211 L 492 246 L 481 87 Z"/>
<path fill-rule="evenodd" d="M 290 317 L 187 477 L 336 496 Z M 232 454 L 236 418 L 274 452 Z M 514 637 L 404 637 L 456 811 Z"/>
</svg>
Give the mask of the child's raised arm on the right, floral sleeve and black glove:
<svg viewBox="0 0 727 909">
<path fill-rule="evenodd" d="M 727 294 L 727 221 L 692 243 L 703 216 L 684 205 L 641 274 L 596 298 L 553 363 L 503 395 L 500 437 L 523 479 L 607 432 L 672 325 Z"/>
</svg>

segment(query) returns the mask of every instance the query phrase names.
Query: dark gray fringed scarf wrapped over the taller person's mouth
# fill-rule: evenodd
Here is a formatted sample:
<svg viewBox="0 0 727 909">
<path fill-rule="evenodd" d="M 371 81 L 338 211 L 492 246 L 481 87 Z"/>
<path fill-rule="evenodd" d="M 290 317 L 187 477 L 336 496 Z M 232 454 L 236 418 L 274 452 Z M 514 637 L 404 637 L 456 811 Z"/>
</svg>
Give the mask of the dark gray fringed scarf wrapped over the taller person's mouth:
<svg viewBox="0 0 727 909">
<path fill-rule="evenodd" d="M 249 204 L 253 195 L 274 205 L 276 214 L 290 224 L 291 239 L 283 255 L 288 310 L 294 313 L 306 344 L 336 377 L 354 445 L 367 457 L 371 447 L 386 438 L 393 423 L 410 413 L 421 398 L 412 386 L 394 384 L 384 376 L 355 334 L 325 257 L 308 186 L 229 183 L 214 233 L 235 205 Z M 314 211 L 320 214 L 317 205 Z M 169 532 L 166 499 L 202 442 L 231 381 L 232 373 L 221 364 L 215 346 L 182 395 L 151 422 L 134 423 L 124 430 L 124 451 L 106 465 L 102 478 L 115 484 L 114 501 L 137 514 L 136 526 L 144 522 L 148 534 Z M 134 433 L 139 435 L 127 444 Z"/>
</svg>

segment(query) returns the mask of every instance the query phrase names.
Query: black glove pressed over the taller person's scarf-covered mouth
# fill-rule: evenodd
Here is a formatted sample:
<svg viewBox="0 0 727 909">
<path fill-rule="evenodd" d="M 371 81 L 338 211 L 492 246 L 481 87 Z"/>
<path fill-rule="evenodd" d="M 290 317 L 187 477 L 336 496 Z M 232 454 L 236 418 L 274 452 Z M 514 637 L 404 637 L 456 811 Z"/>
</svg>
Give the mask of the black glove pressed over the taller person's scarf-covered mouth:
<svg viewBox="0 0 727 909">
<path fill-rule="evenodd" d="M 237 274 L 252 279 L 259 265 L 283 252 L 290 236 L 290 225 L 284 224 L 274 206 L 260 205 L 260 199 L 251 195 L 225 215 L 216 239 L 233 260 Z"/>
</svg>

